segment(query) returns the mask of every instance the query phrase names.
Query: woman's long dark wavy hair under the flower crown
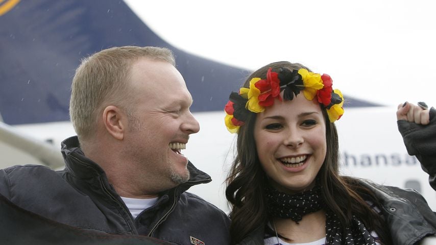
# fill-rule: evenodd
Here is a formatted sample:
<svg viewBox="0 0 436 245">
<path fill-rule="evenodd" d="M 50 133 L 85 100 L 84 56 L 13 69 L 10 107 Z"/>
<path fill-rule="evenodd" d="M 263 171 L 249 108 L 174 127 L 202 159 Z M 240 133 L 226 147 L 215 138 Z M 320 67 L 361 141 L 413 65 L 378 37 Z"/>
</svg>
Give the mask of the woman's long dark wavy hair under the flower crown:
<svg viewBox="0 0 436 245">
<path fill-rule="evenodd" d="M 301 64 L 285 61 L 271 63 L 253 72 L 244 87 L 249 87 L 252 78 L 265 79 L 270 67 L 273 71 L 282 67 L 291 70 L 306 68 Z M 303 95 L 299 94 L 299 96 Z M 391 236 L 384 225 L 383 218 L 362 198 L 365 197 L 377 204 L 374 194 L 361 186 L 357 179 L 339 175 L 336 127 L 329 121 L 326 110 L 322 108 L 322 111 L 326 121 L 327 152 L 317 178 L 323 187 L 322 195 L 326 205 L 337 215 L 343 227 L 349 226 L 355 215 L 369 230 L 375 231 L 384 244 L 390 244 Z M 269 219 L 264 195 L 267 177 L 257 156 L 254 140 L 255 120 L 256 114 L 251 113 L 245 125 L 239 128 L 236 157 L 227 178 L 226 197 L 232 208 L 230 212 L 232 244 L 238 243 L 250 232 L 264 226 Z"/>
</svg>

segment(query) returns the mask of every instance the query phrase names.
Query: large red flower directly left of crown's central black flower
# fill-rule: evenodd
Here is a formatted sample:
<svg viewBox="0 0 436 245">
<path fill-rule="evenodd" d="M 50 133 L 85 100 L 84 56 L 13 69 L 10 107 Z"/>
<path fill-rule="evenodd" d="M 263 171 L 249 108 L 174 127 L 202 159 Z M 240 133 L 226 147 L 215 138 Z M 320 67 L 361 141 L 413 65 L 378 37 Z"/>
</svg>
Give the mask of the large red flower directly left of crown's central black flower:
<svg viewBox="0 0 436 245">
<path fill-rule="evenodd" d="M 255 86 L 260 90 L 258 96 L 259 105 L 267 107 L 274 104 L 274 98 L 280 97 L 280 80 L 278 78 L 277 72 L 271 71 L 272 68 L 268 69 L 267 79 L 262 79 L 256 82 Z"/>
</svg>

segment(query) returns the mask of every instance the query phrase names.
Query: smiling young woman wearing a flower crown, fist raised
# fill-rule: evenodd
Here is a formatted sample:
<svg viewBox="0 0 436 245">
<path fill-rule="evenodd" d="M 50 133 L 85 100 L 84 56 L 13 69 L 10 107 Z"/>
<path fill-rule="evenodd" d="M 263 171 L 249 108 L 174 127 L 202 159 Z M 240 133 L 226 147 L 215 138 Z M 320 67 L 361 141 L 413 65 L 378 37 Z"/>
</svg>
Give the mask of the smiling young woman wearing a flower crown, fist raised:
<svg viewBox="0 0 436 245">
<path fill-rule="evenodd" d="M 343 103 L 328 75 L 289 62 L 256 70 L 231 93 L 225 122 L 238 134 L 226 189 L 233 244 L 432 239 L 436 215 L 417 192 L 339 175 L 333 122 L 344 113 Z M 426 124 L 428 110 L 421 111 L 406 103 L 397 115 Z"/>
</svg>

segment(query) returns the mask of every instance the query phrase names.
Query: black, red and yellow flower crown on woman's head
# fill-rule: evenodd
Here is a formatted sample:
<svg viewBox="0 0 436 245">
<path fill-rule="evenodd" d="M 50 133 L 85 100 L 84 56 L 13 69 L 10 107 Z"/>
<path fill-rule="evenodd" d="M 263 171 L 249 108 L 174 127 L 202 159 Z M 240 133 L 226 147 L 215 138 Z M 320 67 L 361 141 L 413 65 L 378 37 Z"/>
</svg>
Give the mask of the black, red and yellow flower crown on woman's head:
<svg viewBox="0 0 436 245">
<path fill-rule="evenodd" d="M 294 99 L 300 91 L 303 91 L 309 101 L 317 96 L 318 102 L 327 109 L 330 122 L 334 122 L 344 114 L 344 96 L 338 89 L 333 90 L 332 84 L 327 74 L 320 75 L 304 68 L 292 71 L 279 68 L 278 72 L 269 68 L 267 79 L 253 78 L 250 80 L 250 88 L 242 87 L 239 93 L 230 94 L 229 102 L 224 108 L 227 130 L 237 133 L 239 126 L 245 124 L 250 113 L 264 111 L 265 107 L 274 104 L 276 97 L 282 101 L 282 90 L 283 99 L 287 101 Z"/>
</svg>

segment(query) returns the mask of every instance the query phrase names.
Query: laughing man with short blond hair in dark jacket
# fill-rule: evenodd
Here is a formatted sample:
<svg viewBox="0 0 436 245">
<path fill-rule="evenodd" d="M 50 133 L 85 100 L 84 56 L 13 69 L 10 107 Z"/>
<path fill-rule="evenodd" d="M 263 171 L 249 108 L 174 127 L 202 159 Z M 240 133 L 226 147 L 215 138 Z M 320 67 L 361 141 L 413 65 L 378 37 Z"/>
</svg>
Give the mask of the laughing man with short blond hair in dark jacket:
<svg viewBox="0 0 436 245">
<path fill-rule="evenodd" d="M 72 81 L 78 136 L 66 168 L 0 171 L 0 193 L 28 211 L 82 229 L 174 244 L 228 244 L 229 218 L 186 190 L 210 182 L 182 154 L 200 130 L 171 51 L 114 47 L 85 59 Z"/>
</svg>

